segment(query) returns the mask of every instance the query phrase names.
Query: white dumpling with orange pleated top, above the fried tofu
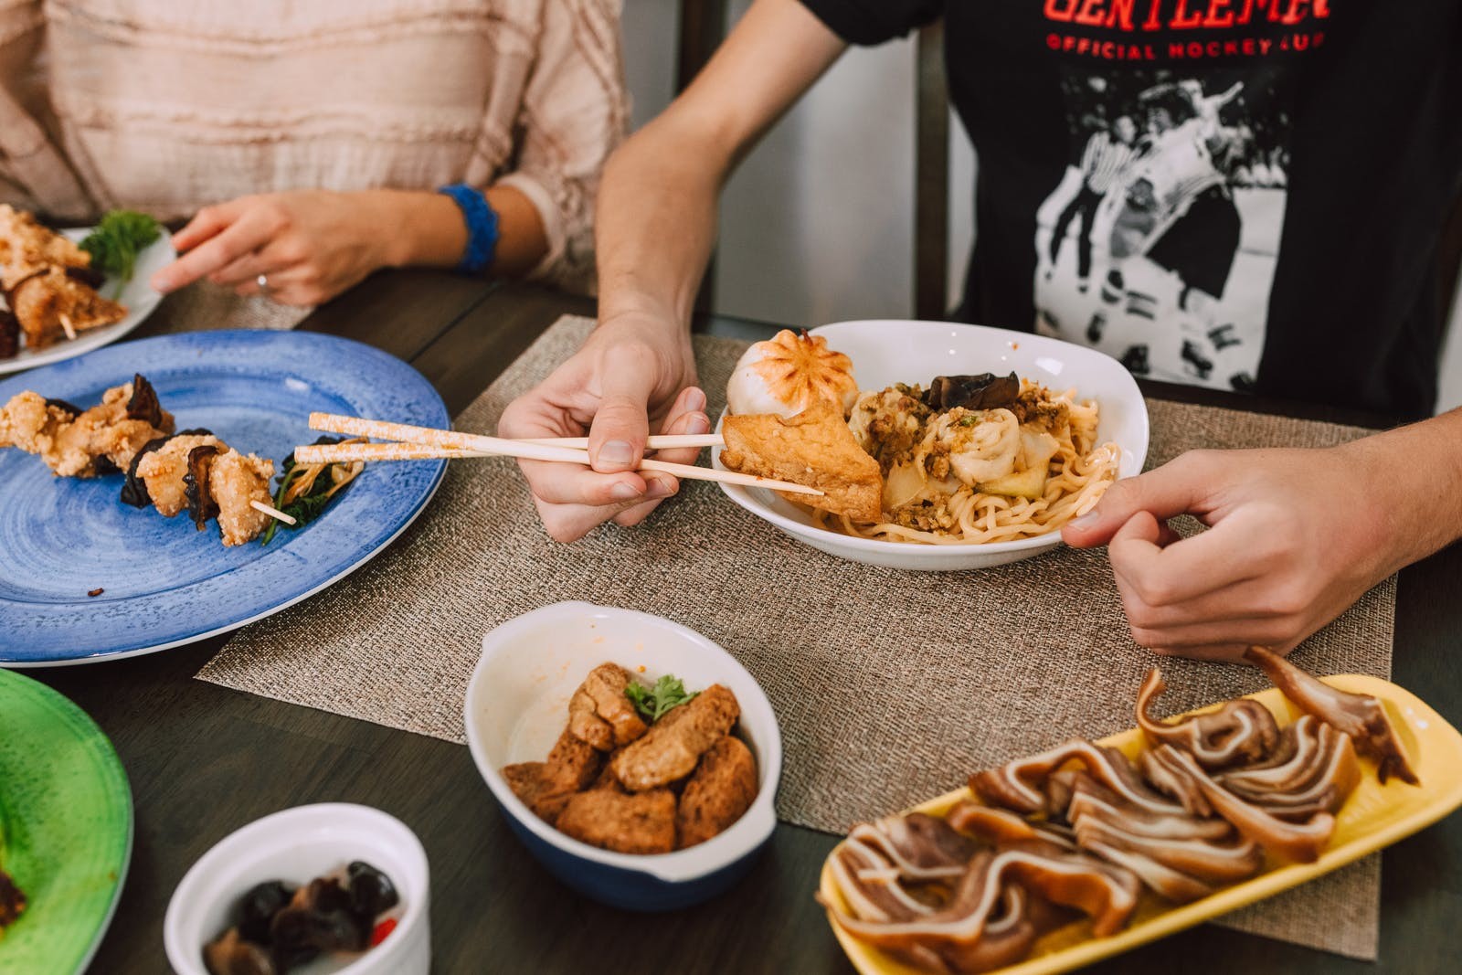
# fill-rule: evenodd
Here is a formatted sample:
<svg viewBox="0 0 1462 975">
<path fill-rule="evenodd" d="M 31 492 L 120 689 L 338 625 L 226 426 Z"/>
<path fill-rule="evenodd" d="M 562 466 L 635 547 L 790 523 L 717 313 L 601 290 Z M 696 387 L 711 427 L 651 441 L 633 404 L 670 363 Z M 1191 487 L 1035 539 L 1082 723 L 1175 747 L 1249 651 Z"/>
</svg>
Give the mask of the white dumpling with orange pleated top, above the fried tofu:
<svg viewBox="0 0 1462 975">
<path fill-rule="evenodd" d="M 852 360 L 827 348 L 820 335 L 782 329 L 746 351 L 727 383 L 727 406 L 738 417 L 795 417 L 817 401 L 844 415 L 858 399 Z"/>
</svg>

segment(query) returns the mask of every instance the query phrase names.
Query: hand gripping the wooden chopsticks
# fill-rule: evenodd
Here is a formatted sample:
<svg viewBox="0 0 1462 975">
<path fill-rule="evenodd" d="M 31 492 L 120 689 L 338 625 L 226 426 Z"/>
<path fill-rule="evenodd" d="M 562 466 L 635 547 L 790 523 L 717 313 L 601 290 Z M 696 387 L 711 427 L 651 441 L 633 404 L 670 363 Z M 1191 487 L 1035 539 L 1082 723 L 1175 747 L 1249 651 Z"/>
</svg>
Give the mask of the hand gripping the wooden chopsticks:
<svg viewBox="0 0 1462 975">
<path fill-rule="evenodd" d="M 652 427 L 665 434 L 711 430 L 706 395 L 694 382 L 684 329 L 648 314 L 623 314 L 601 323 L 573 358 L 507 406 L 500 437 L 589 434 L 592 468 L 519 460 L 553 538 L 572 542 L 608 520 L 639 525 L 680 490 L 668 474 L 642 475 L 635 468 Z M 697 453 L 690 447 L 655 456 L 693 463 Z"/>
</svg>

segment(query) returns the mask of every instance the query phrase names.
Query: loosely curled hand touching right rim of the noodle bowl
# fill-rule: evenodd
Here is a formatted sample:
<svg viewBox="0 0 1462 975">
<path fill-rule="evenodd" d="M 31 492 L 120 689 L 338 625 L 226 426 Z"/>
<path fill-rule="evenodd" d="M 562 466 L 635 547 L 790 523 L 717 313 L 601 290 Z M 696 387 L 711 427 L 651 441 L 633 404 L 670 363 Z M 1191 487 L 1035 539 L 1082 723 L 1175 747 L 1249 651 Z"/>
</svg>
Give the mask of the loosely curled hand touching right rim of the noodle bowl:
<svg viewBox="0 0 1462 975">
<path fill-rule="evenodd" d="M 1061 536 L 1107 544 L 1142 646 L 1213 659 L 1251 643 L 1287 653 L 1412 557 L 1380 459 L 1366 440 L 1197 450 L 1113 484 Z M 1178 538 L 1164 519 L 1183 513 L 1209 529 Z"/>
</svg>

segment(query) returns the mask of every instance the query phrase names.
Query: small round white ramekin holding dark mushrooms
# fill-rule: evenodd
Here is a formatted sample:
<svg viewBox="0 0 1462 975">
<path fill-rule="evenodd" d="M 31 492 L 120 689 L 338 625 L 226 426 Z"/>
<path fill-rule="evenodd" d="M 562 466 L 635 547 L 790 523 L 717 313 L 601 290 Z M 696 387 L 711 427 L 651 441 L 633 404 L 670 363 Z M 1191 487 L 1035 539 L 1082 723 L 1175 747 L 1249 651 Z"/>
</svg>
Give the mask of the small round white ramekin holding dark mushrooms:
<svg viewBox="0 0 1462 975">
<path fill-rule="evenodd" d="M 368 805 L 320 803 L 254 820 L 221 839 L 187 871 L 162 922 L 168 962 L 178 975 L 208 975 L 203 946 L 232 924 L 238 899 L 254 884 L 307 884 L 355 860 L 395 884 L 404 912 L 376 947 L 346 965 L 311 962 L 300 972 L 339 975 L 427 975 L 431 933 L 427 851 L 405 823 Z"/>
</svg>

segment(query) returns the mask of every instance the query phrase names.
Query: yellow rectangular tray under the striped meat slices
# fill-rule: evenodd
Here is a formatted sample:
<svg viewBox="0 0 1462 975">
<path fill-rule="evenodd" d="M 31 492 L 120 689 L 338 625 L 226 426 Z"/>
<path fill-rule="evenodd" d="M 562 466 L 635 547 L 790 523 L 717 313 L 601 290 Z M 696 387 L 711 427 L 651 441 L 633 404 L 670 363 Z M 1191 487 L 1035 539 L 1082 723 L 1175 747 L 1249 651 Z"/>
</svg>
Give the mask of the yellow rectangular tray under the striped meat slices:
<svg viewBox="0 0 1462 975">
<path fill-rule="evenodd" d="M 1376 779 L 1374 763 L 1361 759 L 1364 775 L 1336 814 L 1335 836 L 1320 858 L 1313 864 L 1270 864 L 1265 873 L 1251 880 L 1225 887 L 1216 893 L 1186 903 L 1170 905 L 1155 896 L 1143 896 L 1132 922 L 1120 933 L 1098 938 L 1091 934 L 1091 924 L 1079 921 L 1051 931 L 1035 943 L 1029 957 L 1016 965 L 999 969 L 990 975 L 1051 975 L 1069 972 L 1083 965 L 1129 952 L 1148 941 L 1175 934 L 1194 924 L 1211 921 L 1222 914 L 1263 900 L 1282 890 L 1330 873 L 1366 854 L 1411 836 L 1431 826 L 1439 819 L 1462 805 L 1462 734 L 1449 725 L 1411 691 L 1402 690 L 1379 677 L 1345 674 L 1323 678 L 1326 684 L 1357 694 L 1371 694 L 1386 705 L 1396 734 L 1412 760 L 1412 767 L 1421 779 L 1420 786 L 1392 779 L 1382 785 Z M 1273 712 L 1281 726 L 1300 716 L 1300 709 L 1279 693 L 1278 688 L 1250 694 Z M 1218 707 L 1218 705 L 1213 705 Z M 1208 710 L 1208 709 L 1203 709 Z M 1136 757 L 1146 748 L 1142 731 L 1132 728 L 1096 744 L 1120 748 L 1127 757 Z M 959 800 L 975 798 L 969 789 L 956 789 L 908 811 L 943 816 Z M 829 857 L 830 860 L 830 857 Z M 822 870 L 822 896 L 829 903 L 846 909 L 846 902 L 832 883 L 827 864 Z M 917 975 L 921 969 L 899 962 L 876 947 L 858 941 L 829 918 L 833 934 L 846 952 L 852 966 L 863 975 Z"/>
</svg>

